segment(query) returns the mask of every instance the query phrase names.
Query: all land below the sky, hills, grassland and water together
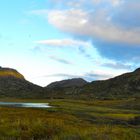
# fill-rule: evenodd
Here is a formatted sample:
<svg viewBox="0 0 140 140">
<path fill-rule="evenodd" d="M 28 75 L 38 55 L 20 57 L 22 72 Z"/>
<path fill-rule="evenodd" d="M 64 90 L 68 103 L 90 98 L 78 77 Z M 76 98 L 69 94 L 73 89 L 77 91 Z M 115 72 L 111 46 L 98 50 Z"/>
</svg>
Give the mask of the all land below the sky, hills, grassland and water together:
<svg viewBox="0 0 140 140">
<path fill-rule="evenodd" d="M 41 87 L 0 68 L 0 140 L 139 140 L 139 75 Z"/>
</svg>

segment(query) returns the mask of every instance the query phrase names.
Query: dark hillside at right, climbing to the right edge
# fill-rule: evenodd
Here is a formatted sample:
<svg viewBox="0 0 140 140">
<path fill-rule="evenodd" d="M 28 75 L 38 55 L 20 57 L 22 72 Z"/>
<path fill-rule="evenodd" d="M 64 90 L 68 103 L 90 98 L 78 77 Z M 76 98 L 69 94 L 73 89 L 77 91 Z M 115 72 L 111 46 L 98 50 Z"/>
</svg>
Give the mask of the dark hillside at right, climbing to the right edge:
<svg viewBox="0 0 140 140">
<path fill-rule="evenodd" d="M 82 88 L 81 94 L 92 97 L 116 98 L 140 96 L 140 68 L 104 81 L 93 81 Z"/>
</svg>

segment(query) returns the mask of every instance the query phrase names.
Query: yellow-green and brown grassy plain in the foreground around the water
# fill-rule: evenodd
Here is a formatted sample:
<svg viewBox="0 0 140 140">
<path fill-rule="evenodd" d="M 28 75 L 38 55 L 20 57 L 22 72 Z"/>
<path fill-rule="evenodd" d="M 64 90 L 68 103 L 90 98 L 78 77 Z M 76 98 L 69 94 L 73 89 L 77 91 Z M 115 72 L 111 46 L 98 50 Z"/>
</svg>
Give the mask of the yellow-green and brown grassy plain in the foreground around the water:
<svg viewBox="0 0 140 140">
<path fill-rule="evenodd" d="M 49 102 L 52 108 L 0 107 L 0 140 L 139 140 L 139 99 L 31 100 Z"/>
</svg>

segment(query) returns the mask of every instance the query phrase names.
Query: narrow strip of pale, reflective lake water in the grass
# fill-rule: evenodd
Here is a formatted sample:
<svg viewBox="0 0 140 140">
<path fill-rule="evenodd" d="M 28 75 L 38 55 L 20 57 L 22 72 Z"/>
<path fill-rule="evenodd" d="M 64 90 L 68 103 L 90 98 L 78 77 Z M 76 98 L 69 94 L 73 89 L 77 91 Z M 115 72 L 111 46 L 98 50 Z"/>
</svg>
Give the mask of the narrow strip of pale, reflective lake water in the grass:
<svg viewBox="0 0 140 140">
<path fill-rule="evenodd" d="M 25 108 L 49 108 L 48 103 L 22 103 L 22 102 L 0 102 L 0 106 L 25 107 Z"/>
</svg>

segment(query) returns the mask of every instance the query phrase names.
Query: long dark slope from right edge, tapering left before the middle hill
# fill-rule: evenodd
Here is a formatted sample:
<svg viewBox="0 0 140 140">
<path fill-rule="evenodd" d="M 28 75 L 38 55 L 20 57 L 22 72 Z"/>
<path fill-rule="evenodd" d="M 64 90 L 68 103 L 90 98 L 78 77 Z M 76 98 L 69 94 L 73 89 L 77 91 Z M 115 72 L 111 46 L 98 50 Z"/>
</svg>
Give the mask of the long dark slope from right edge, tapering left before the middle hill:
<svg viewBox="0 0 140 140">
<path fill-rule="evenodd" d="M 115 78 L 93 81 L 81 87 L 54 88 L 46 91 L 54 98 L 126 98 L 140 97 L 140 68 Z"/>
</svg>

